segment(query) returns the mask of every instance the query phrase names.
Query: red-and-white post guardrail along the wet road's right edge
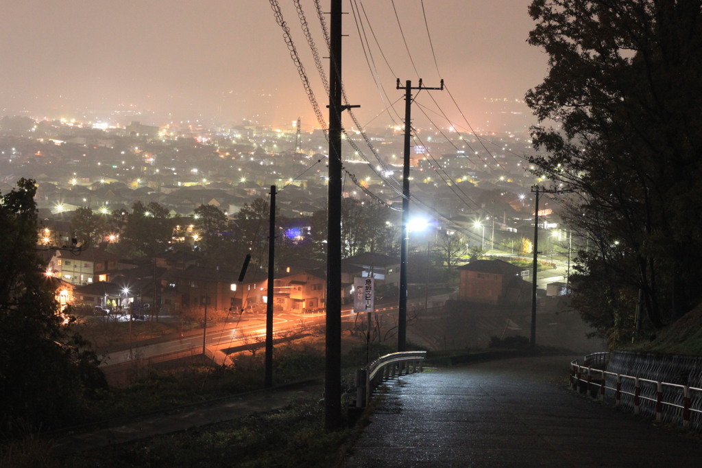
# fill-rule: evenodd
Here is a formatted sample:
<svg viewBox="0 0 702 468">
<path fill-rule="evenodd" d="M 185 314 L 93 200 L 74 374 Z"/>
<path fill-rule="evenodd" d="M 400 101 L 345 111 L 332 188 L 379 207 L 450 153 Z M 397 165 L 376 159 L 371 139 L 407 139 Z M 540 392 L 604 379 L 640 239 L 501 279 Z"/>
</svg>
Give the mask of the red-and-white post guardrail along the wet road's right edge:
<svg viewBox="0 0 702 468">
<path fill-rule="evenodd" d="M 609 353 L 593 353 L 585 356 L 583 365 L 578 360 L 571 362 L 570 388 L 587 392 L 601 401 L 609 396 L 614 404 L 625 404 L 638 415 L 642 405 L 652 405 L 656 422 L 663 420 L 690 427 L 691 420 L 702 422 L 702 389 L 684 384 L 673 384 L 661 380 L 644 379 L 633 375 L 617 374 L 605 370 Z M 607 382 L 611 384 L 607 384 Z M 695 424 L 697 425 L 697 424 Z"/>
</svg>

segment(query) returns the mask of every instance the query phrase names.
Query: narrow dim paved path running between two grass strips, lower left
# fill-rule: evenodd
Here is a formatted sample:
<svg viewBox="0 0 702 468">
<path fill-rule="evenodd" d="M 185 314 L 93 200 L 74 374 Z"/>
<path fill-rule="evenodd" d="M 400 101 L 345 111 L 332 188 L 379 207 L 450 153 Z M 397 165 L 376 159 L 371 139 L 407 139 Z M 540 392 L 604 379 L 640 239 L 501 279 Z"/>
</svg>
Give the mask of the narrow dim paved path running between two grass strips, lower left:
<svg viewBox="0 0 702 468">
<path fill-rule="evenodd" d="M 276 389 L 252 391 L 220 401 L 189 405 L 150 416 L 138 417 L 104 429 L 54 438 L 59 450 L 79 453 L 141 438 L 184 431 L 191 427 L 230 421 L 256 412 L 265 412 L 287 405 L 309 395 L 322 398 L 324 384 L 302 382 Z"/>
</svg>

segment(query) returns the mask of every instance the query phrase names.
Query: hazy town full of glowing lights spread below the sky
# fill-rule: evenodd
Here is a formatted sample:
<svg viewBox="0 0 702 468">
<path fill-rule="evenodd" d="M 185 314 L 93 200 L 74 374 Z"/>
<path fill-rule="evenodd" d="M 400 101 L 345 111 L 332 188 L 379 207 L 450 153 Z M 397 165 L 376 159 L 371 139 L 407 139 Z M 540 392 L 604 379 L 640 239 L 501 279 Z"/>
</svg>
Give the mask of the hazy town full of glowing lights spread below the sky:
<svg viewBox="0 0 702 468">
<path fill-rule="evenodd" d="M 218 308 L 260 306 L 265 294 L 237 299 L 234 287 L 230 288 L 234 281 L 227 275 L 238 268 L 246 252 L 256 248 L 253 233 L 245 233 L 249 214 L 242 213 L 251 211 L 257 199 L 265 200 L 270 186 L 277 187 L 281 237 L 295 247 L 279 253 L 279 271 L 314 273 L 324 264 L 323 241 L 314 232 L 312 220 L 327 207 L 327 142 L 322 130 L 302 131 L 299 119 L 286 128 L 241 124 L 215 129 L 187 122 L 157 126 L 130 121 L 119 126 L 18 116 L 6 116 L 0 123 L 0 190 L 7 193 L 20 178 L 36 181 L 38 244 L 47 251 L 47 274 L 70 285 L 65 288 L 64 304 L 102 307 L 107 312 L 157 302 L 159 311 L 180 313 L 189 304 L 201 307 L 205 303 L 185 293 L 168 298 L 168 287 L 182 290 L 178 282 L 197 280 L 204 290 L 217 291 L 215 299 L 204 300 L 213 300 Z M 371 134 L 345 132 L 350 146 L 344 158 L 343 197 L 355 207 L 365 207 L 373 220 L 383 223 L 371 233 L 371 221 L 354 221 L 368 233 L 350 233 L 345 240 L 347 263 L 357 260 L 355 267 L 347 266 L 345 277 L 350 285 L 353 275 L 369 275 L 369 268 L 376 268 L 373 274 L 386 290 L 397 288 L 402 131 L 388 127 Z M 413 262 L 416 271 L 411 270 L 410 278 L 421 278 L 430 264 L 437 271 L 451 270 L 485 252 L 528 254 L 531 241 L 527 239 L 534 226 L 530 188 L 538 183 L 527 170 L 528 134 L 468 136 L 453 129 L 416 129 L 413 138 L 411 216 L 432 228 L 411 234 L 411 252 L 422 260 Z M 149 207 L 159 214 L 150 213 Z M 221 213 L 227 220 L 223 226 L 237 224 L 239 219 L 231 230 L 239 239 L 234 244 L 243 248 L 227 247 L 227 256 L 232 257 L 228 261 L 224 255 L 212 259 L 217 255 L 212 252 L 213 240 L 205 239 L 197 221 L 203 207 Z M 138 211 L 145 217 L 169 220 L 164 240 L 150 241 L 154 248 L 135 246 L 133 238 L 156 236 L 159 229 L 136 230 L 129 216 Z M 541 214 L 550 214 L 548 200 Z M 267 218 L 260 206 L 256 216 Z M 85 226 L 81 228 L 78 219 L 95 226 L 79 233 Z M 565 234 L 548 216 L 542 222 L 558 240 L 564 239 Z M 125 231 L 131 232 L 131 248 L 126 247 L 130 234 Z M 314 245 L 315 239 L 316 250 L 303 248 Z M 557 242 L 551 243 L 552 253 Z M 204 261 L 197 254 L 206 252 L 208 246 L 211 256 Z M 258 252 L 254 264 L 263 267 L 261 255 Z M 366 257 L 361 261 L 359 255 Z M 292 270 L 291 265 L 295 265 Z M 185 272 L 188 268 L 201 269 Z M 166 274 L 173 269 L 181 272 Z M 380 269 L 386 270 L 383 275 Z M 287 294 L 281 299 L 283 310 L 324 306 L 324 272 L 316 274 L 315 285 L 319 283 L 322 291 L 313 290 L 307 292 L 308 297 L 302 294 L 297 299 Z M 121 286 L 114 285 L 117 278 L 122 278 Z M 457 278 L 457 271 L 432 275 L 432 281 L 446 284 L 456 284 Z M 290 276 L 288 281 L 300 278 Z M 106 289 L 107 283 L 112 287 Z M 222 293 L 227 288 L 231 297 Z"/>
</svg>

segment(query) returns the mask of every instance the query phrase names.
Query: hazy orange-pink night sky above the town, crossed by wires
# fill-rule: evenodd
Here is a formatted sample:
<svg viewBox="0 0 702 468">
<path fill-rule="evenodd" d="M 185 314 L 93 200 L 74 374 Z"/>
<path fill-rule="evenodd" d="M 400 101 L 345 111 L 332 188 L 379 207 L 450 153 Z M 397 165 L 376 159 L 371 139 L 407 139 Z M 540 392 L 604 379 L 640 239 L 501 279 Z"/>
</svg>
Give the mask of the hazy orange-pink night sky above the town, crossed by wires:
<svg viewBox="0 0 702 468">
<path fill-rule="evenodd" d="M 343 81 L 352 104 L 362 106 L 355 111 L 359 122 L 397 122 L 386 107 L 397 101 L 397 112 L 404 115 L 395 80 L 416 83 L 421 77 L 427 86 L 443 78 L 450 93 L 432 93 L 437 103 L 420 93 L 420 107 L 413 110 L 418 124 L 426 112 L 440 126 L 465 126 L 468 120 L 475 128 L 499 131 L 514 115 L 487 114 L 504 107 L 487 105 L 496 99 L 510 101 L 510 108 L 524 112 L 519 119 L 534 123 L 516 102 L 547 70 L 545 54 L 526 42 L 533 27 L 530 2 L 395 0 L 393 6 L 391 0 L 345 0 Z M 324 87 L 296 11 L 291 1 L 280 3 L 326 114 Z M 302 4 L 319 55 L 326 57 L 314 2 Z M 329 11 L 329 0 L 322 0 L 322 8 Z M 362 17 L 360 33 L 355 12 Z M 252 119 L 289 126 L 299 116 L 303 127 L 318 126 L 268 1 L 22 0 L 4 2 L 2 13 L 3 115 L 79 117 L 138 110 L 147 124 L 164 123 L 155 120 L 170 112 L 174 120 L 227 125 Z M 363 34 L 370 43 L 366 54 Z M 366 61 L 368 51 L 374 68 Z M 323 63 L 327 69 L 329 61 Z M 352 122 L 345 120 L 345 126 Z"/>
</svg>

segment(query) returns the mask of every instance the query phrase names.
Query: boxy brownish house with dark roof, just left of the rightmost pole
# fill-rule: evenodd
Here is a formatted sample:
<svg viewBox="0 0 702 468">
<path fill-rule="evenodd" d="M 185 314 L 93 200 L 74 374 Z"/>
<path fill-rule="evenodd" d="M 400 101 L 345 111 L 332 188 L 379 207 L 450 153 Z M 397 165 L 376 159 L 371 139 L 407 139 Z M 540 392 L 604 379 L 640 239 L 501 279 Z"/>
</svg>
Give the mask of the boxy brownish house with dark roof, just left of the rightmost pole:
<svg viewBox="0 0 702 468">
<path fill-rule="evenodd" d="M 522 268 L 502 260 L 474 260 L 458 267 L 458 299 L 483 304 L 522 304 L 529 300 L 529 283 Z"/>
</svg>

